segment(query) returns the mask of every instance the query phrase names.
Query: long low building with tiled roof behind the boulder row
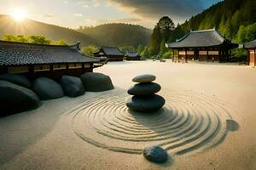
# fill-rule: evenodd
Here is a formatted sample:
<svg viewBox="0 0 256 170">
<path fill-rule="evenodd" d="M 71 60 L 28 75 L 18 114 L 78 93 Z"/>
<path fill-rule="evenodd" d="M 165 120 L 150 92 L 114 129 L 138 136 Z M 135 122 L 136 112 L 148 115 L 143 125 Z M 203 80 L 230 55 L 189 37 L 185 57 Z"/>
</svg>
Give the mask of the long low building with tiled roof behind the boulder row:
<svg viewBox="0 0 256 170">
<path fill-rule="evenodd" d="M 20 73 L 30 78 L 80 76 L 99 63 L 100 59 L 80 53 L 79 42 L 57 46 L 0 41 L 0 73 Z"/>
</svg>

